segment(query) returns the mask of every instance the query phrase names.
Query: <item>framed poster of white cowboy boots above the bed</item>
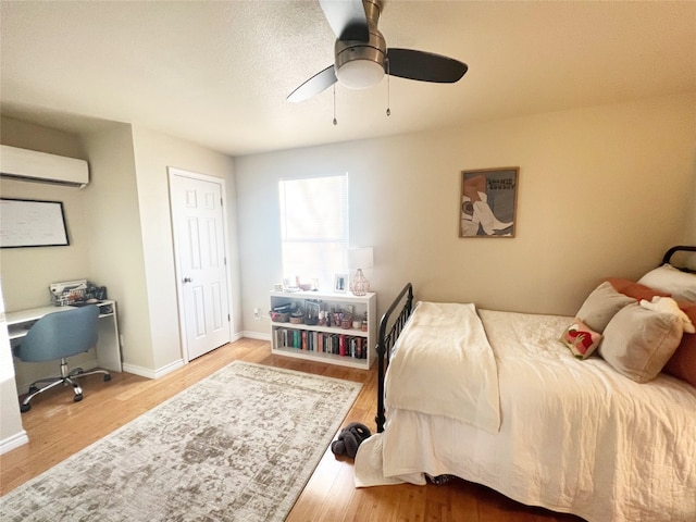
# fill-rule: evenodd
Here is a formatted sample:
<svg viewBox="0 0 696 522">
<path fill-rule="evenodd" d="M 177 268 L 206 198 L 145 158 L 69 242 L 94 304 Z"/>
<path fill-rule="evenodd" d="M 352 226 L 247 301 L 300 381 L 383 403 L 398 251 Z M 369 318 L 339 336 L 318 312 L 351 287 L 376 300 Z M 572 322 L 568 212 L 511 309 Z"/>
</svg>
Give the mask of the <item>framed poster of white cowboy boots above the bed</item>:
<svg viewBox="0 0 696 522">
<path fill-rule="evenodd" d="M 461 171 L 459 237 L 514 237 L 519 166 Z"/>
</svg>

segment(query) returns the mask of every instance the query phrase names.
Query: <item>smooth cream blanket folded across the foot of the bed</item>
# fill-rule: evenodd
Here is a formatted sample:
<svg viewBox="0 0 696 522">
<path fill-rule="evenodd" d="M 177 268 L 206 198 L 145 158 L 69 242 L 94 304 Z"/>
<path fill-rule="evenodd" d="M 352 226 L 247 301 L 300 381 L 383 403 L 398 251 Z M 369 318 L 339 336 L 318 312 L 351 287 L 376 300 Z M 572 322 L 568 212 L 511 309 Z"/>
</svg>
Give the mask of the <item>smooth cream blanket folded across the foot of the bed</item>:
<svg viewBox="0 0 696 522">
<path fill-rule="evenodd" d="M 389 362 L 385 389 L 387 409 L 445 415 L 496 433 L 498 369 L 475 307 L 419 302 Z"/>
</svg>

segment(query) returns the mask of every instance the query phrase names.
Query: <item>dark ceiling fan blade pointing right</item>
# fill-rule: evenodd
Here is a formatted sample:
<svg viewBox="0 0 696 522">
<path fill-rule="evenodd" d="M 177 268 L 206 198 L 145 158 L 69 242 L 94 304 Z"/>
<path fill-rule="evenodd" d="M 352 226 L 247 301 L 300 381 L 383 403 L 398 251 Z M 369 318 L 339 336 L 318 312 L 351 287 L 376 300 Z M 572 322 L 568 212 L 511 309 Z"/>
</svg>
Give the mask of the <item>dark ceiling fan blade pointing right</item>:
<svg viewBox="0 0 696 522">
<path fill-rule="evenodd" d="M 388 49 L 388 72 L 391 76 L 453 84 L 459 82 L 469 69 L 465 63 L 453 58 L 412 49 Z"/>
</svg>

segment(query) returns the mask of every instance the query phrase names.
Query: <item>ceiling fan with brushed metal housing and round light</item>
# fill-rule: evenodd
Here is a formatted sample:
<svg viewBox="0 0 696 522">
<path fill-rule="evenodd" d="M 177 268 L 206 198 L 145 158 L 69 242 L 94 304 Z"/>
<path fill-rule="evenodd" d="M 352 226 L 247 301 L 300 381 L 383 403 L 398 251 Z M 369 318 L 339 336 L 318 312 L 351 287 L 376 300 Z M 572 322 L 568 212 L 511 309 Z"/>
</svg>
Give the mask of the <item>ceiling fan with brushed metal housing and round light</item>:
<svg viewBox="0 0 696 522">
<path fill-rule="evenodd" d="M 372 87 L 385 73 L 419 82 L 453 84 L 469 69 L 453 58 L 412 49 L 386 47 L 377 29 L 383 0 L 320 0 L 336 35 L 335 63 L 316 73 L 287 97 L 304 101 L 340 83 L 352 89 Z"/>
</svg>

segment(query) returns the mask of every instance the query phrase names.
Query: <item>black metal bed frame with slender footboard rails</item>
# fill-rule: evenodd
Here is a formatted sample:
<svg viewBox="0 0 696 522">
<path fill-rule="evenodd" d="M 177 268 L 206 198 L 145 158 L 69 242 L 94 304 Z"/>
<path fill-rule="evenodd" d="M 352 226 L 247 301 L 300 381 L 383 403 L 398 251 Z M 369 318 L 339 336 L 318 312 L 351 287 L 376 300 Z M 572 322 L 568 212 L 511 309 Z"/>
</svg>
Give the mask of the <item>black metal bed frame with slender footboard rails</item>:
<svg viewBox="0 0 696 522">
<path fill-rule="evenodd" d="M 662 264 L 669 263 L 672 256 L 676 252 L 696 252 L 696 246 L 686 246 L 680 245 L 676 247 L 670 248 L 662 258 Z M 680 268 L 685 272 L 696 272 L 694 270 Z M 397 310 L 399 304 L 402 303 L 401 309 L 398 311 L 395 320 L 391 320 L 391 314 Z M 397 298 L 394 300 L 391 306 L 382 315 L 382 320 L 380 321 L 380 332 L 377 336 L 377 414 L 375 417 L 375 421 L 377 423 L 377 433 L 382 433 L 384 431 L 384 423 L 386 422 L 385 411 L 384 411 L 384 377 L 386 373 L 387 365 L 389 363 L 389 356 L 391 352 L 391 348 L 396 343 L 397 337 L 403 330 L 406 325 L 406 321 L 411 315 L 411 311 L 413 310 L 413 285 L 408 283 L 403 289 L 399 293 Z M 390 326 L 389 326 L 390 324 Z"/>
</svg>

